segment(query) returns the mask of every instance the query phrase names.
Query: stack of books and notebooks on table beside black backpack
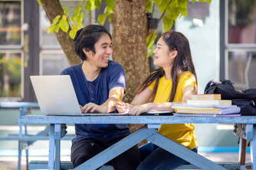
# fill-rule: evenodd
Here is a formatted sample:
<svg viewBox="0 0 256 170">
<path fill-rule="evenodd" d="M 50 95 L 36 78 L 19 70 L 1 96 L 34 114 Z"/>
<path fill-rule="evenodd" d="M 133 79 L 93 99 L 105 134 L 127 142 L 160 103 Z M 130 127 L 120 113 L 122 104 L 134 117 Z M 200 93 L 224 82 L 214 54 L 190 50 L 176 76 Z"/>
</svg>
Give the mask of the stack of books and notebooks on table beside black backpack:
<svg viewBox="0 0 256 170">
<path fill-rule="evenodd" d="M 237 117 L 240 108 L 231 100 L 221 100 L 220 94 L 195 94 L 187 104 L 173 103 L 174 116 L 182 117 Z"/>
</svg>

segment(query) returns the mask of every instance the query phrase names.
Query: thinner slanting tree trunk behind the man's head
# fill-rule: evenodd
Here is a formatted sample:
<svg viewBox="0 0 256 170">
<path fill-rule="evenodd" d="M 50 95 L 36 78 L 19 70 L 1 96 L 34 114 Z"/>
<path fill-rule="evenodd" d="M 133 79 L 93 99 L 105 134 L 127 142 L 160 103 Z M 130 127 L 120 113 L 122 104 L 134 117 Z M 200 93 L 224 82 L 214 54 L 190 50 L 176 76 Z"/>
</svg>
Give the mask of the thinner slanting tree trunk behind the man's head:
<svg viewBox="0 0 256 170">
<path fill-rule="evenodd" d="M 51 24 L 57 15 L 64 15 L 60 1 L 41 0 L 41 3 Z M 70 29 L 68 31 L 70 31 Z M 60 43 L 63 52 L 68 59 L 68 63 L 70 64 L 70 66 L 81 62 L 81 59 L 74 52 L 74 41 L 72 38 L 70 38 L 68 33 L 63 32 L 61 29 L 58 32 L 54 33 Z"/>
</svg>

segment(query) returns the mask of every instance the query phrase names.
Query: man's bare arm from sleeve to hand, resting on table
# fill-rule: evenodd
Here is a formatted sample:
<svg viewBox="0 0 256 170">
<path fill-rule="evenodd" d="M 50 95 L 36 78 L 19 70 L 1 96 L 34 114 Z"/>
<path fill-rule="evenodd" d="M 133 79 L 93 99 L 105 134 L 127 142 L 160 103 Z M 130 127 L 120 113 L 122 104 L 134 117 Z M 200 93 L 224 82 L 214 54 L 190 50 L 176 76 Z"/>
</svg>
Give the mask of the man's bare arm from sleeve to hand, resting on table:
<svg viewBox="0 0 256 170">
<path fill-rule="evenodd" d="M 97 105 L 95 103 L 88 103 L 85 104 L 83 107 L 80 106 L 82 113 L 92 112 L 92 113 L 109 113 L 115 110 L 115 101 L 118 101 L 118 97 L 115 94 L 118 94 L 120 100 L 124 97 L 124 88 L 123 87 L 114 87 L 113 89 L 109 90 L 109 97 L 106 102 L 101 105 Z"/>
</svg>

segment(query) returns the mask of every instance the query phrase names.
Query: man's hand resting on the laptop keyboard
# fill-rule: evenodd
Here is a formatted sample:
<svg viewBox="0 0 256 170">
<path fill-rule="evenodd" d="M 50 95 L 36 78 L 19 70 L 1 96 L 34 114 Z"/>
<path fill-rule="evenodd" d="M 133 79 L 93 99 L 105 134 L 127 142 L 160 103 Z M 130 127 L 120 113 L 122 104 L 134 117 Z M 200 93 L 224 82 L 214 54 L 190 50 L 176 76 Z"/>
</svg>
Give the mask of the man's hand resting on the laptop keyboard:
<svg viewBox="0 0 256 170">
<path fill-rule="evenodd" d="M 107 113 L 108 108 L 106 106 L 98 105 L 95 103 L 87 103 L 84 106 L 79 105 L 82 113 Z"/>
</svg>

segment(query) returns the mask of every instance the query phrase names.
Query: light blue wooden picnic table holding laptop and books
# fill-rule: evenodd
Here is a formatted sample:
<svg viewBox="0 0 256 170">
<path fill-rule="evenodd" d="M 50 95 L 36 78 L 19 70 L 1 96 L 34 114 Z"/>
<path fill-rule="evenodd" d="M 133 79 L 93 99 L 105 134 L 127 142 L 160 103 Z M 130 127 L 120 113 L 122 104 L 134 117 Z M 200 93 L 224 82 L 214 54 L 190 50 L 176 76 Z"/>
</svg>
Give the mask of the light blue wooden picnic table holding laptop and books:
<svg viewBox="0 0 256 170">
<path fill-rule="evenodd" d="M 157 133 L 160 124 L 246 124 L 244 138 L 251 141 L 252 169 L 256 170 L 253 160 L 256 159 L 256 117 L 172 117 L 172 116 L 24 116 L 17 119 L 19 124 L 50 124 L 48 169 L 60 169 L 60 139 L 65 135 L 65 124 L 147 124 L 147 128 L 139 129 L 113 146 L 95 155 L 75 169 L 97 169 L 120 153 L 125 152 L 143 139 L 178 155 L 201 169 L 225 169 L 201 155 L 188 150 L 172 140 Z"/>
</svg>

